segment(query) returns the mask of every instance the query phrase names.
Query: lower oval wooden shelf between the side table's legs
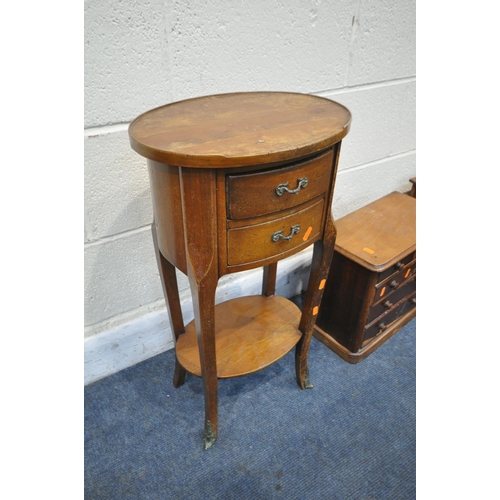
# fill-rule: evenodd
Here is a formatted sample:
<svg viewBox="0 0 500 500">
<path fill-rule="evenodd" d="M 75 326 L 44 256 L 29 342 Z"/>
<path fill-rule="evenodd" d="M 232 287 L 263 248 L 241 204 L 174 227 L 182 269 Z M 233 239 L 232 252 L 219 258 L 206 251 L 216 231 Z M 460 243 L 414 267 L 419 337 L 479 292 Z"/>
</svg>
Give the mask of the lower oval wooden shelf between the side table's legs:
<svg viewBox="0 0 500 500">
<path fill-rule="evenodd" d="M 215 306 L 217 377 L 230 378 L 262 370 L 290 352 L 300 340 L 301 311 L 288 299 L 254 295 Z M 177 340 L 179 363 L 201 377 L 194 320 Z"/>
</svg>

